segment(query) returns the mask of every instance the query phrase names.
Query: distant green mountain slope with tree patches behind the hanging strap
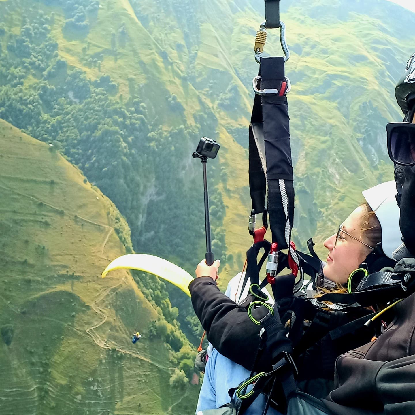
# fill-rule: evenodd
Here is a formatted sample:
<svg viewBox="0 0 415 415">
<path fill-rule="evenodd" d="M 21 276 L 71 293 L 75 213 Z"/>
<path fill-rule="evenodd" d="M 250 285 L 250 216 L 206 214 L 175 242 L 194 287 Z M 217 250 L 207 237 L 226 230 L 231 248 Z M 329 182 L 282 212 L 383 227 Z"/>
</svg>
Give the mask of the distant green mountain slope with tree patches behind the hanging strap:
<svg viewBox="0 0 415 415">
<path fill-rule="evenodd" d="M 163 251 L 192 271 L 203 254 L 203 210 L 190 153 L 198 135 L 221 142 L 210 169 L 213 247 L 226 263 L 222 281 L 238 271 L 251 242 L 246 129 L 264 2 L 8 0 L 0 9 L 7 58 L 0 117 L 37 139 L 59 141 L 125 215 L 137 251 Z M 42 16 L 50 18 L 46 25 Z M 392 177 L 383 130 L 401 117 L 393 87 L 412 52 L 415 18 L 383 0 L 285 0 L 281 16 L 292 51 L 286 72 L 293 83 L 294 240 L 304 248 L 313 236 L 322 253 L 322 240 L 361 201 L 361 190 Z M 42 31 L 56 51 L 31 34 Z M 269 32 L 266 52 L 281 54 L 278 31 Z M 50 48 L 50 56 L 37 47 Z M 20 93 L 32 107 L 9 108 Z M 115 101 L 116 117 L 107 111 Z M 88 114 L 100 102 L 102 120 Z M 81 127 L 79 113 L 86 118 Z M 132 128 L 137 117 L 145 128 Z M 103 158 L 108 140 L 119 148 Z M 104 171 L 114 163 L 124 173 L 116 184 Z"/>
</svg>

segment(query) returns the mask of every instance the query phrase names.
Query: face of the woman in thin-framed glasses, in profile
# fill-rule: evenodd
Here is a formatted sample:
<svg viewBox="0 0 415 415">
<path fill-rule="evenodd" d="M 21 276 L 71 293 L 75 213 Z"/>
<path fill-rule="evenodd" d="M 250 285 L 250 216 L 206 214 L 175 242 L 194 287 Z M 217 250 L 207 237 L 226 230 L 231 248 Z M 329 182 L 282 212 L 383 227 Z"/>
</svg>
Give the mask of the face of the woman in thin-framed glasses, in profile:
<svg viewBox="0 0 415 415">
<path fill-rule="evenodd" d="M 362 236 L 361 218 L 366 213 L 366 208 L 359 206 L 347 217 L 342 229 L 362 242 L 368 243 Z M 327 265 L 323 268 L 325 278 L 344 285 L 352 271 L 359 267 L 371 249 L 359 241 L 340 232 L 336 247 L 336 234 L 324 241 L 324 246 L 329 250 Z"/>
</svg>

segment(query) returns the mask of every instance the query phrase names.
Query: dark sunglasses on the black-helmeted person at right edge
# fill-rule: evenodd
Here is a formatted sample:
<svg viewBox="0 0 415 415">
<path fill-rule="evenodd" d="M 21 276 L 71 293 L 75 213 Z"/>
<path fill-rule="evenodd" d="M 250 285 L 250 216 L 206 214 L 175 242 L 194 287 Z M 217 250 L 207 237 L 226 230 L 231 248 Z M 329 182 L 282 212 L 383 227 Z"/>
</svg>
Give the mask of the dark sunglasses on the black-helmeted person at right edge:
<svg viewBox="0 0 415 415">
<path fill-rule="evenodd" d="M 386 132 L 391 160 L 401 166 L 415 166 L 415 124 L 389 122 Z"/>
</svg>

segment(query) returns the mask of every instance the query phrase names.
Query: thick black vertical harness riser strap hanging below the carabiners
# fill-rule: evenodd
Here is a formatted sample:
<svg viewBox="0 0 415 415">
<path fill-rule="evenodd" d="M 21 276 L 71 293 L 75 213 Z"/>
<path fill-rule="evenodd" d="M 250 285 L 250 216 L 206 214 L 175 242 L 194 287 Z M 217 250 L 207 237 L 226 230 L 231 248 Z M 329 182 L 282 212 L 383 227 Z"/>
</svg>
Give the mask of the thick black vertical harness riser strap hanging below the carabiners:
<svg viewBox="0 0 415 415">
<path fill-rule="evenodd" d="M 285 82 L 284 58 L 261 58 L 260 75 L 262 89 L 280 89 Z M 255 96 L 249 127 L 249 188 L 252 208 L 261 213 L 268 183 L 269 224 L 278 250 L 289 247 L 294 217 L 289 124 L 285 96 Z"/>
</svg>

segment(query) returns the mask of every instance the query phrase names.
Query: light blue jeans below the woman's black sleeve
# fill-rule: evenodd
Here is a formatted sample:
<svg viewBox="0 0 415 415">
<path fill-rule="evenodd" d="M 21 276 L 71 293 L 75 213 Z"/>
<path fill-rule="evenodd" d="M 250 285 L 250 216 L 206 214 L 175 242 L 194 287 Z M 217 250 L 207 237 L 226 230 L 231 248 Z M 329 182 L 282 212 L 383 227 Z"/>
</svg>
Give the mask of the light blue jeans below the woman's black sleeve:
<svg viewBox="0 0 415 415">
<path fill-rule="evenodd" d="M 216 349 L 213 349 L 207 360 L 196 413 L 207 409 L 220 408 L 225 403 L 229 403 L 231 400 L 228 394 L 229 389 L 236 388 L 239 383 L 249 378 L 250 375 L 251 372 L 249 370 L 234 363 L 227 357 L 222 356 Z M 261 394 L 254 400 L 245 414 L 261 415 L 265 404 L 265 396 Z M 273 408 L 269 408 L 267 414 L 281 415 Z"/>
</svg>

